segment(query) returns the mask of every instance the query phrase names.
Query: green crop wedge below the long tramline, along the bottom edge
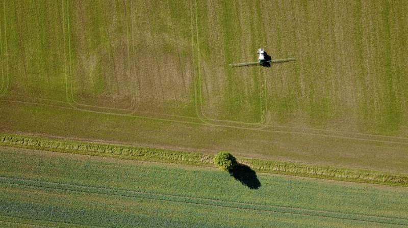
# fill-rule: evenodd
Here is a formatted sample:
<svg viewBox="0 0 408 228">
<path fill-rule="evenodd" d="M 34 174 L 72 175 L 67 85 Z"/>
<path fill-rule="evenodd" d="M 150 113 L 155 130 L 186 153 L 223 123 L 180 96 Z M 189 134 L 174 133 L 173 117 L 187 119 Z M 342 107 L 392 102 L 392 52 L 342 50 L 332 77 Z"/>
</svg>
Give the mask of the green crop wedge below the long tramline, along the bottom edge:
<svg viewBox="0 0 408 228">
<path fill-rule="evenodd" d="M 339 220 L 286 213 L 277 213 L 278 216 L 275 218 L 275 213 L 272 212 L 274 216 L 271 216 L 271 212 L 260 210 L 54 189 L 35 189 L 39 193 L 50 195 L 52 201 L 32 203 L 30 196 L 21 192 L 24 190 L 23 186 L 14 187 L 2 184 L 2 187 L 6 189 L 6 193 L 15 195 L 16 191 L 21 194 L 10 201 L 0 198 L 0 203 L 8 208 L 7 211 L 0 211 L 3 214 L 0 217 L 11 217 L 17 224 L 22 223 L 20 220 L 28 220 L 27 224 L 33 221 L 36 222 L 31 224 L 38 224 L 38 221 L 41 220 L 43 221 L 41 223 L 57 223 L 57 227 L 260 227 L 267 224 L 276 224 L 279 227 L 302 227 L 301 224 L 304 223 L 312 223 L 313 227 L 327 227 L 324 224 L 331 222 L 336 224 L 332 227 L 341 227 L 341 225 L 364 227 L 349 219 Z M 231 220 L 226 220 L 223 214 L 227 214 L 226 218 Z M 207 216 L 211 216 L 211 219 L 207 220 Z M 60 226 L 60 224 L 66 224 L 66 226 Z M 374 225 L 376 225 L 374 227 L 380 227 L 379 225 L 384 225 L 384 223 L 374 223 Z M 312 227 L 312 225 L 307 227 Z"/>
</svg>

